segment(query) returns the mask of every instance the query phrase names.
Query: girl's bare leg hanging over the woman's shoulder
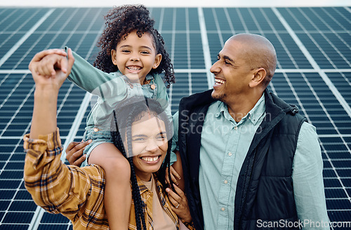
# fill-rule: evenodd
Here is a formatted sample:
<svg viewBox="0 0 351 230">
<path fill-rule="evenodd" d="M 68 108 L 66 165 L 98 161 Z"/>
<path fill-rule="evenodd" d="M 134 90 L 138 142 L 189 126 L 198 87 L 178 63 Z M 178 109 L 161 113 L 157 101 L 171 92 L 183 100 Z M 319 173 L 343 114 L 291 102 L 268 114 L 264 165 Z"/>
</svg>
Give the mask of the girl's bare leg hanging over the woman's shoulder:
<svg viewBox="0 0 351 230">
<path fill-rule="evenodd" d="M 128 229 L 131 211 L 131 167 L 112 143 L 99 144 L 88 163 L 100 165 L 106 173 L 104 205 L 111 230 Z"/>
</svg>

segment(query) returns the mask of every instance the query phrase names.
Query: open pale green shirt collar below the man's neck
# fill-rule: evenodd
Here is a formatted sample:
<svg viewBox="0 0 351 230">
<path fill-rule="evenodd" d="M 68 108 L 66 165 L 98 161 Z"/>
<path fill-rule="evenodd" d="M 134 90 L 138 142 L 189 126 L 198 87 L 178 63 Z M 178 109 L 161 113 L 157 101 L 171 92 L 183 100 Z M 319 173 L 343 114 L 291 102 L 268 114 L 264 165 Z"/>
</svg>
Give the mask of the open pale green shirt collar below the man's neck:
<svg viewBox="0 0 351 230">
<path fill-rule="evenodd" d="M 227 104 L 224 102 L 218 101 L 218 109 L 216 111 L 216 117 L 218 116 L 224 116 L 226 119 L 230 121 L 234 121 L 232 116 L 230 116 Z M 255 106 L 249 111 L 246 116 L 244 116 L 239 123 L 244 123 L 247 119 L 251 121 L 254 125 L 258 122 L 261 116 L 265 114 L 265 94 L 263 94 L 258 102 L 256 102 Z"/>
</svg>

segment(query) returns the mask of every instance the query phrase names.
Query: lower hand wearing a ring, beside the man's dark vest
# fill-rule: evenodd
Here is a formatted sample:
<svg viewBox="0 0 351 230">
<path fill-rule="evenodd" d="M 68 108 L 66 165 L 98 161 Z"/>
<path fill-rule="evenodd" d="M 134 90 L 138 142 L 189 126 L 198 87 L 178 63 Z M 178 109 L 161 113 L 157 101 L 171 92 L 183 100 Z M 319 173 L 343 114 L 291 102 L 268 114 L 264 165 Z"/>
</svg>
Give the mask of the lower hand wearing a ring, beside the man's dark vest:
<svg viewBox="0 0 351 230">
<path fill-rule="evenodd" d="M 190 215 L 187 197 L 185 196 L 182 189 L 178 188 L 176 184 L 173 184 L 173 186 L 176 192 L 172 191 L 172 189 L 169 188 L 166 189 L 169 201 L 172 203 L 171 208 L 180 219 L 182 219 L 184 222 L 191 223 L 192 216 Z"/>
</svg>

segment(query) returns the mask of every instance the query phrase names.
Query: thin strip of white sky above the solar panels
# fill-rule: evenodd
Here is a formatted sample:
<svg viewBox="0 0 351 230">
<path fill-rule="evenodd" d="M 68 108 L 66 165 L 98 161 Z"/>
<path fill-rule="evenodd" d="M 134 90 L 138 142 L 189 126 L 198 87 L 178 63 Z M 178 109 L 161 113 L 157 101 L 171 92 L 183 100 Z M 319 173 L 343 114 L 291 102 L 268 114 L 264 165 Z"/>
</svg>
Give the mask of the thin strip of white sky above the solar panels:
<svg viewBox="0 0 351 230">
<path fill-rule="evenodd" d="M 351 6 L 351 0 L 1 0 L 0 6 L 27 7 L 112 7 L 144 4 L 147 7 L 270 7 L 270 6 Z"/>
</svg>

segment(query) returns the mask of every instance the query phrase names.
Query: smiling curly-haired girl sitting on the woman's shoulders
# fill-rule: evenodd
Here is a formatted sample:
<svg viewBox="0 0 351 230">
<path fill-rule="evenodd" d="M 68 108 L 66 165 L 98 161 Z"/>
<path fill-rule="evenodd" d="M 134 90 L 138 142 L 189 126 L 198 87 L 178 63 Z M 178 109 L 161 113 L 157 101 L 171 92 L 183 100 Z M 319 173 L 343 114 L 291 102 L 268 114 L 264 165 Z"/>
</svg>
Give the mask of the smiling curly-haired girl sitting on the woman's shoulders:
<svg viewBox="0 0 351 230">
<path fill-rule="evenodd" d="M 74 53 L 68 79 L 99 96 L 87 118 L 84 140 L 93 142 L 84 149 L 84 154 L 86 163 L 100 165 L 105 170 L 104 204 L 110 229 L 125 230 L 131 207 L 131 170 L 112 142 L 111 114 L 127 97 L 143 95 L 157 100 L 171 119 L 166 87 L 159 74 L 164 72 L 169 85 L 174 83 L 174 71 L 164 40 L 154 29 L 147 8 L 120 6 L 113 8 L 105 19 L 106 28 L 98 42 L 101 51 L 94 62 L 98 69 Z M 44 57 L 37 73 L 54 76 L 54 69 L 60 68 L 60 58 L 65 59 L 57 54 Z"/>
</svg>

